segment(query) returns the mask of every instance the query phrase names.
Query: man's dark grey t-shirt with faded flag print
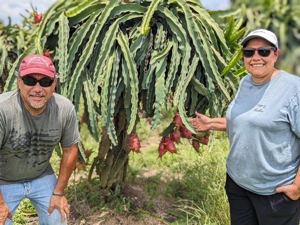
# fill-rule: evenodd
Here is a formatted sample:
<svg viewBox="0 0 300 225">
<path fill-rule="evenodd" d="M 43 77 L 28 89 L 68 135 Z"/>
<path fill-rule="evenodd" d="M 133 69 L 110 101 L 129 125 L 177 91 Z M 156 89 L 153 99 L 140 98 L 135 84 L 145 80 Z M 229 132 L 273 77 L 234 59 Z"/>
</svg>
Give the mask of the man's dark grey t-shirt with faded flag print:
<svg viewBox="0 0 300 225">
<path fill-rule="evenodd" d="M 19 90 L 0 94 L 0 185 L 33 180 L 53 169 L 54 146 L 70 147 L 79 141 L 74 106 L 53 93 L 45 110 L 32 115 Z"/>
</svg>

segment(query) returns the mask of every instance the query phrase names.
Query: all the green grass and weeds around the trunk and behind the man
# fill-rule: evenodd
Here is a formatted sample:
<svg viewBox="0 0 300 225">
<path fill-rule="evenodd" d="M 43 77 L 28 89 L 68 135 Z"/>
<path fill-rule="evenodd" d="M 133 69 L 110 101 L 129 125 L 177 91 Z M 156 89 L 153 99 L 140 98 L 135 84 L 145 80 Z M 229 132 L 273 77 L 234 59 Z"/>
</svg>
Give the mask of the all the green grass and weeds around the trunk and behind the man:
<svg viewBox="0 0 300 225">
<path fill-rule="evenodd" d="M 140 152 L 130 152 L 126 183 L 129 185 L 143 184 L 143 191 L 149 196 L 144 202 L 149 211 L 155 207 L 154 198 L 159 194 L 173 199 L 178 210 L 171 211 L 179 220 L 173 224 L 230 224 L 229 207 L 224 191 L 225 158 L 228 152 L 228 141 L 225 132 L 217 132 L 213 145 L 201 146 L 196 152 L 187 139 L 181 138 L 176 144 L 176 153 L 166 153 L 158 157 L 157 147 L 161 136 L 158 134 L 168 126 L 174 110 L 164 113 L 161 124 L 154 130 L 141 118 L 136 132 L 143 143 Z M 90 159 L 97 154 L 97 143 L 86 133 L 82 126 L 81 140 L 86 148 L 93 149 Z M 53 169 L 59 168 L 59 157 L 54 152 L 51 158 Z M 90 162 L 89 162 L 90 164 Z M 85 168 L 88 171 L 90 165 Z M 149 176 L 142 174 L 152 171 Z M 153 172 L 154 171 L 154 172 Z M 163 180 L 163 181 L 161 181 Z M 130 201 L 119 192 L 103 199 L 97 177 L 92 183 L 80 177 L 75 170 L 67 187 L 68 200 L 75 210 L 76 217 L 85 221 L 85 215 L 94 211 L 113 208 L 117 213 L 130 213 Z M 14 214 L 13 224 L 25 223 L 26 212 L 33 213 L 29 200 L 24 199 Z M 101 217 L 101 219 L 103 219 Z M 108 218 L 107 218 L 108 219 Z M 82 223 L 83 224 L 83 223 Z"/>
</svg>

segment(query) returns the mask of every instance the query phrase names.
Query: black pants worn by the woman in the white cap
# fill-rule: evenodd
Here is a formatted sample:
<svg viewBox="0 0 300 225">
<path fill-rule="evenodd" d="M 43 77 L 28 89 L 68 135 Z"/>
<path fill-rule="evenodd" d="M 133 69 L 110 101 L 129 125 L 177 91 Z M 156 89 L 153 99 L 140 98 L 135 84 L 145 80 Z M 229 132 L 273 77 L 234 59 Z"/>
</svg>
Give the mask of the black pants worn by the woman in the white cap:
<svg viewBox="0 0 300 225">
<path fill-rule="evenodd" d="M 225 184 L 231 225 L 299 225 L 300 198 L 284 193 L 260 195 L 237 185 L 228 174 Z"/>
</svg>

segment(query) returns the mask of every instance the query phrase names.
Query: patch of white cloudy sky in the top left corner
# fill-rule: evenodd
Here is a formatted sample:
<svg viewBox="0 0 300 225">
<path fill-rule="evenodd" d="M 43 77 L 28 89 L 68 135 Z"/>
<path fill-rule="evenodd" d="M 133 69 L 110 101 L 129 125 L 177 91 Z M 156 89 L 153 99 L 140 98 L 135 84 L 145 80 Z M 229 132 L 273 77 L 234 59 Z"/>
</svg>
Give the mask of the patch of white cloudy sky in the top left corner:
<svg viewBox="0 0 300 225">
<path fill-rule="evenodd" d="M 47 10 L 54 2 L 55 0 L 0 0 L 0 19 L 7 25 L 9 16 L 12 24 L 19 24 L 23 19 L 20 14 L 28 17 L 26 9 L 33 12 L 30 3 L 40 13 Z"/>
</svg>

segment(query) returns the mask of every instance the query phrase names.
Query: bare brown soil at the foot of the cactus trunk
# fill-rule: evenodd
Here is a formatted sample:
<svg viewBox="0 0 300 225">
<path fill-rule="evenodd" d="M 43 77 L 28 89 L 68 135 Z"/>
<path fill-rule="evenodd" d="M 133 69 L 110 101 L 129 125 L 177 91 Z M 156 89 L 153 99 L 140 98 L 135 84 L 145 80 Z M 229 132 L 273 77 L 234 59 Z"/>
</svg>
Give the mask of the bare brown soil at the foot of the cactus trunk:
<svg viewBox="0 0 300 225">
<path fill-rule="evenodd" d="M 80 208 L 84 210 L 85 214 L 76 213 L 75 208 L 71 207 L 70 220 L 68 224 L 81 225 L 81 224 L 105 224 L 105 225 L 160 225 L 167 224 L 166 221 L 175 221 L 177 218 L 168 214 L 167 210 L 176 210 L 176 205 L 172 199 L 168 197 L 158 196 L 151 201 L 155 201 L 154 206 L 149 208 L 145 206 L 145 201 L 149 200 L 139 186 L 126 185 L 123 190 L 122 196 L 131 201 L 130 210 L 135 212 L 130 213 L 116 213 L 113 209 L 108 210 L 91 210 L 88 206 Z"/>
</svg>

